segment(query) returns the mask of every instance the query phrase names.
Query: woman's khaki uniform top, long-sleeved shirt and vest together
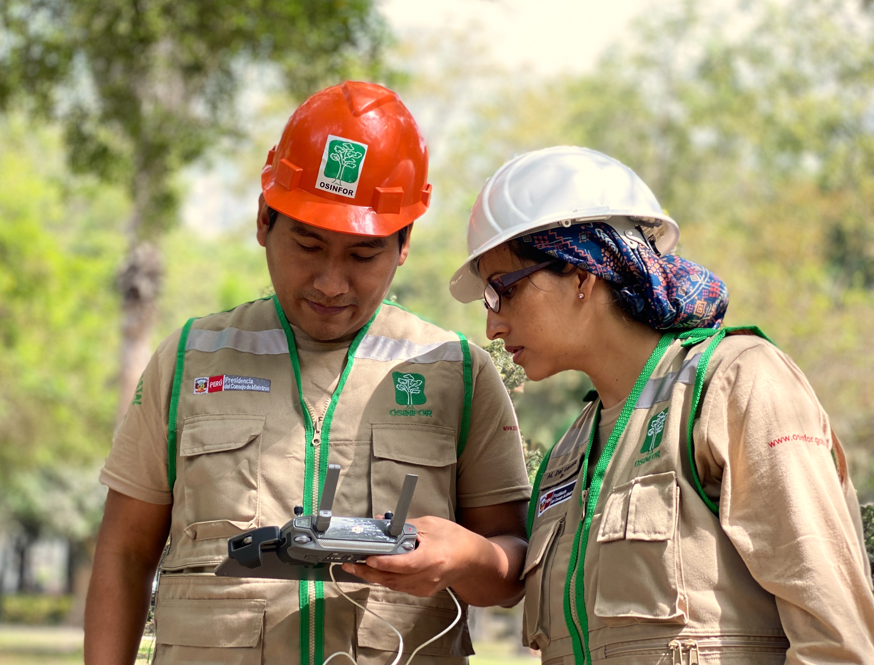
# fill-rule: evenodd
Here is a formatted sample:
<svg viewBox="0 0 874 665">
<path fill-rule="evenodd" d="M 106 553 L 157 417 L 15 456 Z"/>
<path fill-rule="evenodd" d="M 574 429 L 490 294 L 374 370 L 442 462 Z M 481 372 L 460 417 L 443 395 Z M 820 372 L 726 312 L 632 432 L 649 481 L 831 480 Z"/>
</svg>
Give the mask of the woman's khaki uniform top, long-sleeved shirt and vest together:
<svg viewBox="0 0 874 665">
<path fill-rule="evenodd" d="M 856 494 L 807 379 L 757 336 L 726 337 L 709 364 L 710 340 L 682 343 L 669 343 L 629 397 L 606 466 L 594 450 L 609 434 L 593 436 L 597 404 L 545 461 L 524 567 L 525 641 L 550 665 L 586 652 L 617 665 L 874 662 Z M 601 470 L 584 484 L 589 446 Z"/>
</svg>

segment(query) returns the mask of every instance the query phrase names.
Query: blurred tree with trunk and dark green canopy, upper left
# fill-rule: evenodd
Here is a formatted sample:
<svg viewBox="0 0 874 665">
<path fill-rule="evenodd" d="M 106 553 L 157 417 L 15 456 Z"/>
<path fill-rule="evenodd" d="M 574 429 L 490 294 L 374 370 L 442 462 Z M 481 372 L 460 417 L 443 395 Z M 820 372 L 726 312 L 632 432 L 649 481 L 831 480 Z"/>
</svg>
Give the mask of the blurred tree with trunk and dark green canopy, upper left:
<svg viewBox="0 0 874 665">
<path fill-rule="evenodd" d="M 302 94 L 340 74 L 372 74 L 383 38 L 372 0 L 0 3 L 0 108 L 59 121 L 73 170 L 122 184 L 133 203 L 117 281 L 120 416 L 152 352 L 174 175 L 239 134 L 239 91 L 256 75 L 265 85 L 264 65 Z"/>
</svg>

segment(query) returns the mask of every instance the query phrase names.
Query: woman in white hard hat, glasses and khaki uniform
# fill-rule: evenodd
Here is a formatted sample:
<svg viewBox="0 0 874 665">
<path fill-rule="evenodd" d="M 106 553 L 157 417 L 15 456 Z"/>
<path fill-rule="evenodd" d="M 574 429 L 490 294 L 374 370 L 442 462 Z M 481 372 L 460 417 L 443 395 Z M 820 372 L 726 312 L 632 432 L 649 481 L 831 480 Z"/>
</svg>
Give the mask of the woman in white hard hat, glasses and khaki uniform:
<svg viewBox="0 0 874 665">
<path fill-rule="evenodd" d="M 814 391 L 621 163 L 491 177 L 451 290 L 531 380 L 598 394 L 538 470 L 524 641 L 545 663 L 874 662 L 855 490 Z"/>
</svg>

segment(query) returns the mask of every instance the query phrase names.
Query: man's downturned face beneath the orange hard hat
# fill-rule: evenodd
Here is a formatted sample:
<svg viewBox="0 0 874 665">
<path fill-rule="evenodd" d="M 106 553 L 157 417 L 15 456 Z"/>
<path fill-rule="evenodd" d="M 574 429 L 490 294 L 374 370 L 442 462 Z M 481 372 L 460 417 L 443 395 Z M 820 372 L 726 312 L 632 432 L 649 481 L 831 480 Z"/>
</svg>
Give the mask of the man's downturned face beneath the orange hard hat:
<svg viewBox="0 0 874 665">
<path fill-rule="evenodd" d="M 283 214 L 272 231 L 268 227 L 261 199 L 258 242 L 267 249 L 276 297 L 289 322 L 324 341 L 350 338 L 368 322 L 409 249 L 409 234 L 399 251 L 397 233 L 350 235 Z"/>
</svg>

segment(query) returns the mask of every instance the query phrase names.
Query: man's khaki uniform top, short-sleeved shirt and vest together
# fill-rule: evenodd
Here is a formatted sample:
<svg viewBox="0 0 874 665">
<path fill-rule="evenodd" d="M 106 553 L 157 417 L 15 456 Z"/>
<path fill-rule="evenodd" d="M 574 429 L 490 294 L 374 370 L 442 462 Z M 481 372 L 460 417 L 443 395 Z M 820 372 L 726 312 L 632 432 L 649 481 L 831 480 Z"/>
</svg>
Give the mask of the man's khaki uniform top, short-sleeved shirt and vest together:
<svg viewBox="0 0 874 665">
<path fill-rule="evenodd" d="M 305 486 L 304 457 L 309 469 L 316 455 L 319 468 L 319 428 L 341 374 L 345 383 L 334 399 L 324 449 L 331 463 L 343 467 L 335 515 L 393 509 L 407 472 L 420 475 L 411 518 L 454 520 L 456 509 L 524 501 L 531 493 L 516 416 L 485 351 L 469 347 L 469 431 L 466 445 L 457 449 L 467 392 L 457 336 L 385 304 L 362 331 L 366 335 L 357 337 L 357 349 L 350 350 L 349 342 L 318 342 L 299 329 L 283 334 L 277 314 L 274 301 L 255 301 L 194 322 L 184 356 L 172 488 L 167 424 L 179 332 L 164 340 L 149 362 L 101 471 L 101 481 L 122 494 L 173 503 L 156 606 L 157 663 L 321 665 L 335 651 L 351 651 L 361 665 L 392 661 L 395 635 L 329 582 L 299 585 L 217 578 L 211 572 L 226 553 L 227 537 L 281 525 L 293 516 L 295 504 L 316 499 L 318 477 Z M 289 360 L 292 343 L 314 441 L 304 436 Z M 347 351 L 354 356 L 351 367 Z M 406 396 L 412 407 L 394 385 L 394 375 L 405 372 L 424 382 L 424 391 Z M 269 390 L 196 394 L 198 377 L 223 373 L 237 375 L 238 384 L 253 378 L 266 386 L 268 379 Z M 328 437 L 321 436 L 323 445 Z M 407 654 L 454 619 L 446 592 L 420 599 L 380 586 L 341 586 L 398 628 Z M 462 620 L 417 661 L 461 663 L 471 653 Z"/>
</svg>

